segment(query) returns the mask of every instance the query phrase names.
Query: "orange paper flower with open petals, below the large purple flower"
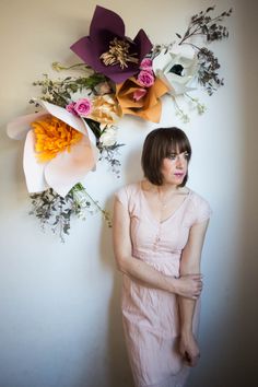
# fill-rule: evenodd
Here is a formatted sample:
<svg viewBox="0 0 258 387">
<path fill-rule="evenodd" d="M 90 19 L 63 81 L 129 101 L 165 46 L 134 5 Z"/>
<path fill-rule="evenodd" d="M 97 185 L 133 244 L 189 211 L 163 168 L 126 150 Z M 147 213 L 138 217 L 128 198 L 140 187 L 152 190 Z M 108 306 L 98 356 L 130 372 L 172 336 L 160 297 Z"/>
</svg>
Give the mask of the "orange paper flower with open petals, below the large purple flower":
<svg viewBox="0 0 258 387">
<path fill-rule="evenodd" d="M 133 77 L 117 85 L 116 96 L 124 114 L 159 122 L 162 113 L 160 97 L 167 91 L 168 87 L 160 79 L 156 79 L 152 86 L 144 89 Z"/>
</svg>

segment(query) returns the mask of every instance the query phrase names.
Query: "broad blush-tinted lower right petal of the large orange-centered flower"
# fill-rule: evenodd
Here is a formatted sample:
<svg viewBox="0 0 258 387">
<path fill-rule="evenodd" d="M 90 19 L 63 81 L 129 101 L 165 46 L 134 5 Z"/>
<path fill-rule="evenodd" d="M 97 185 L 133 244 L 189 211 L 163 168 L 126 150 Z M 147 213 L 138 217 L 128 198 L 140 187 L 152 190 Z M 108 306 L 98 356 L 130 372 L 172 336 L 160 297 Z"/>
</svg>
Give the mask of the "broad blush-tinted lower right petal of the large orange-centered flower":
<svg viewBox="0 0 258 387">
<path fill-rule="evenodd" d="M 45 167 L 45 178 L 52 189 L 64 197 L 70 189 L 80 183 L 95 166 L 95 153 L 87 137 L 71 148 L 70 152 L 61 152 Z"/>
</svg>

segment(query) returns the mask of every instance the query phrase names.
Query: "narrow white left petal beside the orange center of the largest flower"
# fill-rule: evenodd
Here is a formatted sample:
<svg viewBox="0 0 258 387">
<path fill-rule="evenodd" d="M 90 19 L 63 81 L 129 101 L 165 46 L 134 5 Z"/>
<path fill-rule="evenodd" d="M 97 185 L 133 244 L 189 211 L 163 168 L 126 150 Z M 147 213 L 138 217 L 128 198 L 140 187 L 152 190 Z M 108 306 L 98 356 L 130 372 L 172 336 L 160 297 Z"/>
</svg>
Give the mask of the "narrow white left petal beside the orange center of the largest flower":
<svg viewBox="0 0 258 387">
<path fill-rule="evenodd" d="M 23 169 L 28 192 L 42 192 L 49 188 L 44 177 L 46 163 L 38 163 L 35 157 L 35 137 L 30 130 L 24 145 Z"/>
</svg>

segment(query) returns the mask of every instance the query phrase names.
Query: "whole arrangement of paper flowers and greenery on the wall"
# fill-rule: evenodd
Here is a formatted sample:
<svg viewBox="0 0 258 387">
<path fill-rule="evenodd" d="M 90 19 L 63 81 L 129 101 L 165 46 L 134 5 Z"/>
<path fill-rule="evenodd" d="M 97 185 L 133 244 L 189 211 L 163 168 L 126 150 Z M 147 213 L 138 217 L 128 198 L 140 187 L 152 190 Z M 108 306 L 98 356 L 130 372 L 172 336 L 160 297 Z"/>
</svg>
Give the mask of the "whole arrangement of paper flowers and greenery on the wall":
<svg viewBox="0 0 258 387">
<path fill-rule="evenodd" d="M 117 142 L 117 124 L 124 115 L 159 122 L 165 94 L 184 121 L 189 117 L 179 98 L 188 98 L 199 114 L 204 112 L 191 92 L 200 85 L 212 95 L 223 85 L 219 60 L 207 45 L 228 36 L 220 23 L 232 9 L 215 16 L 213 12 L 210 7 L 195 14 L 186 33 L 176 33 L 177 43 L 153 45 L 143 30 L 133 39 L 126 36 L 121 17 L 97 5 L 90 35 L 71 46 L 82 62 L 70 67 L 55 62 L 54 70 L 69 75 L 52 80 L 45 74 L 34 82 L 40 87 L 40 95 L 30 101 L 36 113 L 10 122 L 8 134 L 25 139 L 23 168 L 31 213 L 43 228 L 50 225 L 63 242 L 71 216 L 84 219 L 95 210 L 112 225 L 109 214 L 82 181 L 102 159 L 119 176 L 117 154 L 122 144 Z M 190 54 L 184 52 L 186 46 Z"/>
</svg>

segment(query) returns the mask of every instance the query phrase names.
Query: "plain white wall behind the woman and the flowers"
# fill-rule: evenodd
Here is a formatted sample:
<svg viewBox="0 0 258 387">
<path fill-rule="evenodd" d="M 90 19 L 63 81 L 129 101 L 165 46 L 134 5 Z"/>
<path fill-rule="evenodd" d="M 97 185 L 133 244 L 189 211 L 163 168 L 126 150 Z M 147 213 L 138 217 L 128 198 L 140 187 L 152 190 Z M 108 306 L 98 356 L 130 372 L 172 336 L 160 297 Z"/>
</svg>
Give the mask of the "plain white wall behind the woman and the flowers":
<svg viewBox="0 0 258 387">
<path fill-rule="evenodd" d="M 75 62 L 69 46 L 87 34 L 96 1 L 1 0 L 0 3 L 0 387 L 129 387 L 119 289 L 110 230 L 98 215 L 74 222 L 64 245 L 43 234 L 27 215 L 22 143 L 5 136 L 13 117 L 30 112 L 32 82 L 49 64 Z M 143 27 L 153 43 L 174 40 L 204 0 L 103 0 L 127 34 Z M 225 86 L 188 125 L 164 101 L 162 125 L 178 125 L 194 148 L 189 185 L 211 203 L 204 250 L 200 342 L 202 356 L 191 387 L 255 387 L 257 361 L 257 4 L 234 7 L 231 36 L 213 46 Z M 122 177 L 106 165 L 89 176 L 89 191 L 112 209 L 114 191 L 141 176 L 140 149 L 153 125 L 125 118 L 119 125 Z"/>
</svg>

